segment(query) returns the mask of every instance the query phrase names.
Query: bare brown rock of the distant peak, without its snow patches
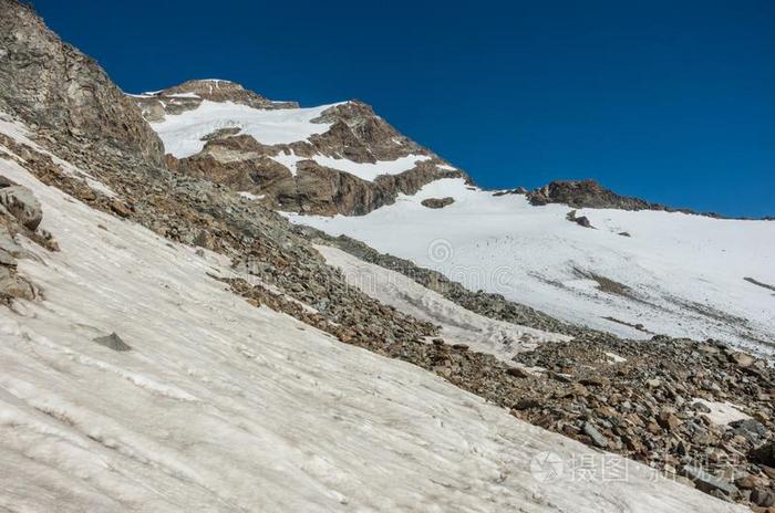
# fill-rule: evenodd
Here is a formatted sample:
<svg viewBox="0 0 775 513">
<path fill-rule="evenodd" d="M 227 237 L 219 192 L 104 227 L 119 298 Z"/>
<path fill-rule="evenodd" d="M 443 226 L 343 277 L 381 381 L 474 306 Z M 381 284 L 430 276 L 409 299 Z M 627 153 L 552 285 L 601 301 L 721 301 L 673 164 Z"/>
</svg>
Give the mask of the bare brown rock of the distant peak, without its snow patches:
<svg viewBox="0 0 775 513">
<path fill-rule="evenodd" d="M 192 81 L 135 101 L 143 107 L 145 117 L 155 122 L 165 115 L 196 108 L 203 98 L 242 103 L 252 108 L 298 107 L 269 102 L 237 84 L 220 81 Z M 167 164 L 177 172 L 249 192 L 267 207 L 317 214 L 368 213 L 392 203 L 399 193 L 416 192 L 430 181 L 465 176 L 401 135 L 361 102 L 331 106 L 312 123 L 331 126 L 306 140 L 277 145 L 261 144 L 241 134 L 239 127 L 221 128 L 202 138 L 206 144 L 198 154 L 183 159 L 167 155 Z M 292 170 L 272 159 L 291 155 L 300 159 Z M 417 156 L 412 169 L 381 175 L 373 181 L 314 160 L 320 156 L 344 159 L 344 164 L 376 164 L 411 155 Z"/>
</svg>

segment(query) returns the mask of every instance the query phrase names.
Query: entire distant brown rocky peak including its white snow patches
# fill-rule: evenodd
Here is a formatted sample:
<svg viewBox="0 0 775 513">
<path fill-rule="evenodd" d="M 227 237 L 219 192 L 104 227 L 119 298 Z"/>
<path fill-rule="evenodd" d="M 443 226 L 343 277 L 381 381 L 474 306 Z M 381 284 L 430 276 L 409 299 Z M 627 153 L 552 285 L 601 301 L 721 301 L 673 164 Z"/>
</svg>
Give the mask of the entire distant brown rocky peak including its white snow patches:
<svg viewBox="0 0 775 513">
<path fill-rule="evenodd" d="M 465 176 L 361 102 L 302 109 L 220 80 L 132 100 L 165 140 L 170 169 L 276 209 L 362 214 L 435 179 Z"/>
</svg>

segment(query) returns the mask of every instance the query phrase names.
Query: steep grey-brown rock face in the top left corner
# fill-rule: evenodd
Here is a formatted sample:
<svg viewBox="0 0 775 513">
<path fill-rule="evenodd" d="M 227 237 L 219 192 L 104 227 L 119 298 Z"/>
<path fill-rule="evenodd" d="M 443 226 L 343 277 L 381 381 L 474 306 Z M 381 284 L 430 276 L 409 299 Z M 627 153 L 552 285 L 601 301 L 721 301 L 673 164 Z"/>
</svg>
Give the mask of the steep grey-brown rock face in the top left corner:
<svg viewBox="0 0 775 513">
<path fill-rule="evenodd" d="M 89 56 L 32 10 L 0 0 L 0 111 L 42 137 L 162 164 L 162 143 L 140 109 Z"/>
</svg>

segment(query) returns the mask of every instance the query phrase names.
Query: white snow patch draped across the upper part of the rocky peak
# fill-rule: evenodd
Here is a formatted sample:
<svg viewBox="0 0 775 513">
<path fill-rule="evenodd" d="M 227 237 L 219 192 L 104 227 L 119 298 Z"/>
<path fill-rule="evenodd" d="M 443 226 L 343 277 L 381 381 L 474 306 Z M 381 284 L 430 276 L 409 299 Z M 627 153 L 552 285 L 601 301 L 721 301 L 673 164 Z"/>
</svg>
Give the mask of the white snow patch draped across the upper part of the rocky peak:
<svg viewBox="0 0 775 513">
<path fill-rule="evenodd" d="M 331 127 L 330 123 L 312 123 L 312 119 L 333 105 L 261 109 L 234 102 L 205 100 L 197 108 L 167 114 L 164 121 L 152 123 L 151 127 L 164 143 L 166 153 L 185 158 L 202 151 L 205 147 L 202 137 L 220 128 L 239 127 L 240 134 L 250 135 L 266 145 L 304 140 Z"/>
</svg>

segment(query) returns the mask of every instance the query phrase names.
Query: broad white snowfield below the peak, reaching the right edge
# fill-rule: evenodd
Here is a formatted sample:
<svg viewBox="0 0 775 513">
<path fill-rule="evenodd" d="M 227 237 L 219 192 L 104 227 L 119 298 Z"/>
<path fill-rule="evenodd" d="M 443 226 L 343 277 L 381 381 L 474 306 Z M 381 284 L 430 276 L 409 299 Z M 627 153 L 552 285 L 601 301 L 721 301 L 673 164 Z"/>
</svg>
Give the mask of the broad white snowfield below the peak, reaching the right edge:
<svg viewBox="0 0 775 513">
<path fill-rule="evenodd" d="M 443 197 L 455 202 L 437 210 L 421 206 Z M 592 230 L 569 222 L 569 211 L 443 179 L 366 216 L 290 219 L 411 259 L 471 290 L 498 292 L 622 336 L 651 335 L 607 317 L 652 333 L 775 350 L 775 295 L 744 280 L 775 284 L 775 222 L 580 210 Z M 595 280 L 600 276 L 629 290 L 616 293 L 608 282 L 602 286 L 611 292 L 604 292 Z"/>
</svg>

